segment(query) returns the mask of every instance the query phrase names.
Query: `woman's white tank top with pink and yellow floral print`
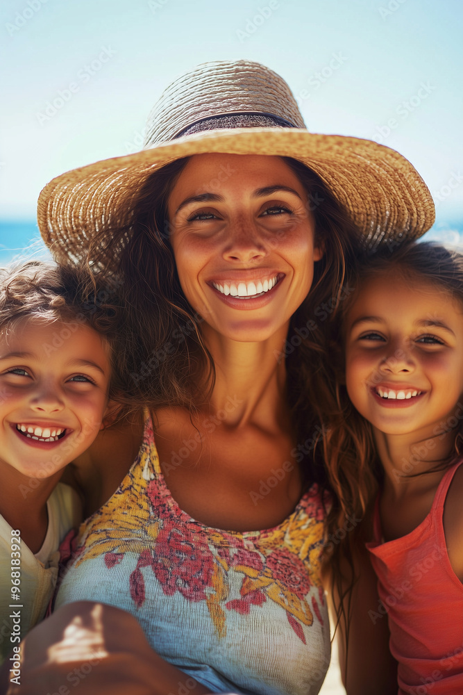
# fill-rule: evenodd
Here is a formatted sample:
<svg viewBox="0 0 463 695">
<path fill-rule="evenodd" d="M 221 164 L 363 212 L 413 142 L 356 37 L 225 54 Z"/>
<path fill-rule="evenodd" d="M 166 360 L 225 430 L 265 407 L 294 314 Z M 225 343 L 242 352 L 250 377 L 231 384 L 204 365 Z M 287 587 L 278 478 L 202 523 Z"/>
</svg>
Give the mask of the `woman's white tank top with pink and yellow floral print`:
<svg viewBox="0 0 463 695">
<path fill-rule="evenodd" d="M 317 484 L 275 528 L 209 528 L 167 488 L 146 418 L 119 489 L 83 522 L 56 606 L 109 603 L 211 692 L 315 695 L 330 662 Z"/>
</svg>

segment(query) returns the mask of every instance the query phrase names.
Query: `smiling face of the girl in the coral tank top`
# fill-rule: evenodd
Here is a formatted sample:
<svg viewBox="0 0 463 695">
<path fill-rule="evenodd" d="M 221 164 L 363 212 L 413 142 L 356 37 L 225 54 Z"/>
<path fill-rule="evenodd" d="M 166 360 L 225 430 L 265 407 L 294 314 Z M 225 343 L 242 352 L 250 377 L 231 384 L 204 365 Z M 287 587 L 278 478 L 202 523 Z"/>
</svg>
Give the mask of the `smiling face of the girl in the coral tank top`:
<svg viewBox="0 0 463 695">
<path fill-rule="evenodd" d="M 381 274 L 362 286 L 345 325 L 348 395 L 373 427 L 421 439 L 455 427 L 463 393 L 459 302 L 426 281 Z"/>
</svg>

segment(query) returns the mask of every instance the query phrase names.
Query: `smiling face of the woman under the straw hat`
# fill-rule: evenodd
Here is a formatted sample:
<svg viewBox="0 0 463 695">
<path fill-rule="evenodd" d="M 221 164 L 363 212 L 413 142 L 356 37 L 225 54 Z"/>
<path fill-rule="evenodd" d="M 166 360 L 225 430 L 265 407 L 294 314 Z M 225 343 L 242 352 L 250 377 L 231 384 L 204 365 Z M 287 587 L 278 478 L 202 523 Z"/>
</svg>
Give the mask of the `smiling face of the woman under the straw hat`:
<svg viewBox="0 0 463 695">
<path fill-rule="evenodd" d="M 180 284 L 210 329 L 240 342 L 287 329 L 321 250 L 308 195 L 282 159 L 193 156 L 168 214 Z"/>
</svg>

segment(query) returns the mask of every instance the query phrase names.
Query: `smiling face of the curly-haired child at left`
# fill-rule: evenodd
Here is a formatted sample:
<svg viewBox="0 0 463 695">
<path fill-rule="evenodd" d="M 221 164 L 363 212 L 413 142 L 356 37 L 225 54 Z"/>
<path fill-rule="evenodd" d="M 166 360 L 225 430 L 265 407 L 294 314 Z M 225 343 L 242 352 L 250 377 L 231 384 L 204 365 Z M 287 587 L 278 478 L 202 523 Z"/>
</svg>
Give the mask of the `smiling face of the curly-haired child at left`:
<svg viewBox="0 0 463 695">
<path fill-rule="evenodd" d="M 0 470 L 49 477 L 85 451 L 108 404 L 110 363 L 77 322 L 22 320 L 0 333 Z"/>
</svg>

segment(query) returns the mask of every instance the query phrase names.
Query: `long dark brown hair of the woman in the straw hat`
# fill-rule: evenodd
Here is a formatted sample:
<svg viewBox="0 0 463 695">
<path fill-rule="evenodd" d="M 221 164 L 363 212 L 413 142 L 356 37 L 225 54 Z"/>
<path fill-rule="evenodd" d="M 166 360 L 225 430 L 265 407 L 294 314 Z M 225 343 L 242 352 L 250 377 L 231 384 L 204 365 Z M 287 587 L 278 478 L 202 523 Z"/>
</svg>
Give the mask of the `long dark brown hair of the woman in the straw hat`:
<svg viewBox="0 0 463 695">
<path fill-rule="evenodd" d="M 95 238 L 88 260 L 91 268 L 101 268 L 108 254 L 116 261 L 116 270 L 100 272 L 116 278 L 127 304 L 127 329 L 134 336 L 126 353 L 131 398 L 152 409 L 176 405 L 194 413 L 212 391 L 214 363 L 201 335 L 203 318 L 180 287 L 167 217 L 169 194 L 187 161 L 153 172 L 140 190 L 131 226 L 115 230 L 104 249 Z M 304 460 L 312 482 L 328 486 L 323 455 L 314 445 L 321 414 L 335 397 L 326 379 L 326 327 L 343 300 L 346 268 L 360 235 L 321 177 L 292 158 L 283 161 L 308 193 L 316 243 L 324 253 L 315 263 L 308 297 L 292 316 L 285 349 L 275 357 L 287 366 L 288 405 L 298 444 L 293 455 Z"/>
</svg>

